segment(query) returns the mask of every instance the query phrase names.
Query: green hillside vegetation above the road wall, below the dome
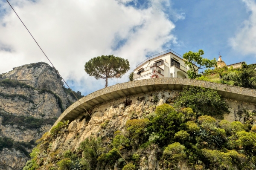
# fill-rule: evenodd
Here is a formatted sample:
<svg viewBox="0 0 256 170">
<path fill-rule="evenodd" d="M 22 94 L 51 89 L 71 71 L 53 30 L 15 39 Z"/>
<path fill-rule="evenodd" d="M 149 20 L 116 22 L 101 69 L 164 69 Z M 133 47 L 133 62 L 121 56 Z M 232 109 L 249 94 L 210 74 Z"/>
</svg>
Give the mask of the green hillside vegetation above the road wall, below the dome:
<svg viewBox="0 0 256 170">
<path fill-rule="evenodd" d="M 215 83 L 229 84 L 233 86 L 240 86 L 250 89 L 256 89 L 256 65 L 242 64 L 239 69 L 233 69 L 233 67 L 219 68 L 219 69 L 207 69 L 198 80 L 212 81 Z"/>
</svg>

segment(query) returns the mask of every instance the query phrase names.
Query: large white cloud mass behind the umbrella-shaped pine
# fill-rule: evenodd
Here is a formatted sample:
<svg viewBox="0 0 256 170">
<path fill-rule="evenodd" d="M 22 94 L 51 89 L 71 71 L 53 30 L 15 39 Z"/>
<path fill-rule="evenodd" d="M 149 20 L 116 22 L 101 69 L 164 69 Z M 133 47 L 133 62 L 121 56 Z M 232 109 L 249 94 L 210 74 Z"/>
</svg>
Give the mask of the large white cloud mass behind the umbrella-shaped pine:
<svg viewBox="0 0 256 170">
<path fill-rule="evenodd" d="M 12 0 L 14 9 L 60 74 L 73 80 L 84 93 L 103 88 L 104 80 L 89 77 L 84 63 L 99 55 L 115 55 L 130 61 L 131 69 L 151 52 L 177 43 L 175 28 L 163 3 L 151 0 L 148 8 L 125 6 L 131 0 Z M 122 3 L 120 3 L 122 2 Z M 4 1 L 0 8 L 0 73 L 15 66 L 47 61 L 32 37 Z M 170 9 L 169 9 L 170 10 Z M 179 14 L 177 14 L 179 16 Z M 181 17 L 182 18 L 182 17 Z M 125 40 L 114 50 L 117 40 Z M 119 82 L 128 81 L 127 75 Z M 99 83 L 100 82 L 100 83 Z M 109 81 L 109 85 L 116 80 Z"/>
</svg>

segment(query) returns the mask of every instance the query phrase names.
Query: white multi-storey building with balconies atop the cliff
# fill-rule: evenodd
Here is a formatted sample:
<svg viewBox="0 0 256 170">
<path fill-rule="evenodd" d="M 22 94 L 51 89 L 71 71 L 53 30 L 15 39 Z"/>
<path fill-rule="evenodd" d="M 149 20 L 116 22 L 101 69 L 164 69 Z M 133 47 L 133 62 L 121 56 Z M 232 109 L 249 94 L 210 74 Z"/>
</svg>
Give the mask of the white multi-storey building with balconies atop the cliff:
<svg viewBox="0 0 256 170">
<path fill-rule="evenodd" d="M 179 56 L 169 49 L 147 58 L 134 69 L 133 80 L 152 78 L 152 75 L 159 78 L 188 78 L 189 67 Z"/>
</svg>

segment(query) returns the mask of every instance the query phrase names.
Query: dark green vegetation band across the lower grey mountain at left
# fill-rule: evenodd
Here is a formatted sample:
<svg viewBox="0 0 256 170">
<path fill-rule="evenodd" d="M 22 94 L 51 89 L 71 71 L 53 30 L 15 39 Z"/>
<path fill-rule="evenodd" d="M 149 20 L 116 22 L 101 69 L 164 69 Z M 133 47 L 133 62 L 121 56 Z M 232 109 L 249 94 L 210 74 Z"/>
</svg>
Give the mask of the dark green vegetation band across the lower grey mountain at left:
<svg viewBox="0 0 256 170">
<path fill-rule="evenodd" d="M 41 125 L 50 124 L 53 125 L 57 118 L 34 118 L 32 116 L 25 115 L 14 115 L 0 110 L 0 116 L 2 118 L 1 124 L 6 125 L 17 125 L 20 130 L 26 129 L 38 129 Z"/>
</svg>

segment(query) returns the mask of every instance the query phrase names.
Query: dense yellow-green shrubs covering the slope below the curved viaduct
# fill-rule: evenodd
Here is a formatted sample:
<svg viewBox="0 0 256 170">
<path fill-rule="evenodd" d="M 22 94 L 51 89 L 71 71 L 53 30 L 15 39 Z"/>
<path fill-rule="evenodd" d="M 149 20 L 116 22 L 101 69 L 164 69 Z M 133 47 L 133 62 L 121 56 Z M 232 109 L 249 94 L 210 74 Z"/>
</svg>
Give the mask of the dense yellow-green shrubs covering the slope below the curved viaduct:
<svg viewBox="0 0 256 170">
<path fill-rule="evenodd" d="M 213 107 L 218 110 L 209 112 Z M 224 112 L 227 106 L 215 90 L 190 87 L 180 93 L 174 107 L 163 104 L 154 112 L 145 112 L 140 119 L 134 118 L 133 113 L 125 131 L 114 132 L 113 138 L 92 135 L 81 142 L 76 152 L 49 153 L 51 143 L 57 136 L 64 135 L 68 125 L 59 122 L 41 138 L 41 144 L 34 148 L 32 160 L 23 170 L 95 170 L 96 167 L 102 170 L 106 165 L 113 168 L 115 164 L 122 170 L 136 170 L 143 157 L 152 151 L 157 153 L 159 167 L 163 169 L 177 170 L 179 161 L 185 161 L 195 170 L 255 169 L 255 113 L 244 112 L 244 124 L 217 122 L 212 117 Z M 43 164 L 46 159 L 48 164 Z"/>
</svg>

